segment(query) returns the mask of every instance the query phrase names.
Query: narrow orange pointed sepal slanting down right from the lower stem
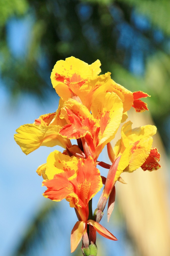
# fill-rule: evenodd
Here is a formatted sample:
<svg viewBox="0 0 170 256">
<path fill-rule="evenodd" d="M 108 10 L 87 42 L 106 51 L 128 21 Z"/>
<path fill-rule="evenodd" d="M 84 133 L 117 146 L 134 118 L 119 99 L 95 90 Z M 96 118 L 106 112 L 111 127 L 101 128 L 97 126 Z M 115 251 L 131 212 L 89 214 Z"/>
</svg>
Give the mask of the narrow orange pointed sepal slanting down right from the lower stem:
<svg viewBox="0 0 170 256">
<path fill-rule="evenodd" d="M 96 231 L 103 237 L 106 237 L 110 240 L 117 241 L 117 238 L 113 236 L 112 233 L 110 233 L 106 228 L 104 228 L 102 225 L 100 225 L 98 222 L 94 220 L 88 220 L 87 224 L 91 225 L 96 229 Z"/>
</svg>

